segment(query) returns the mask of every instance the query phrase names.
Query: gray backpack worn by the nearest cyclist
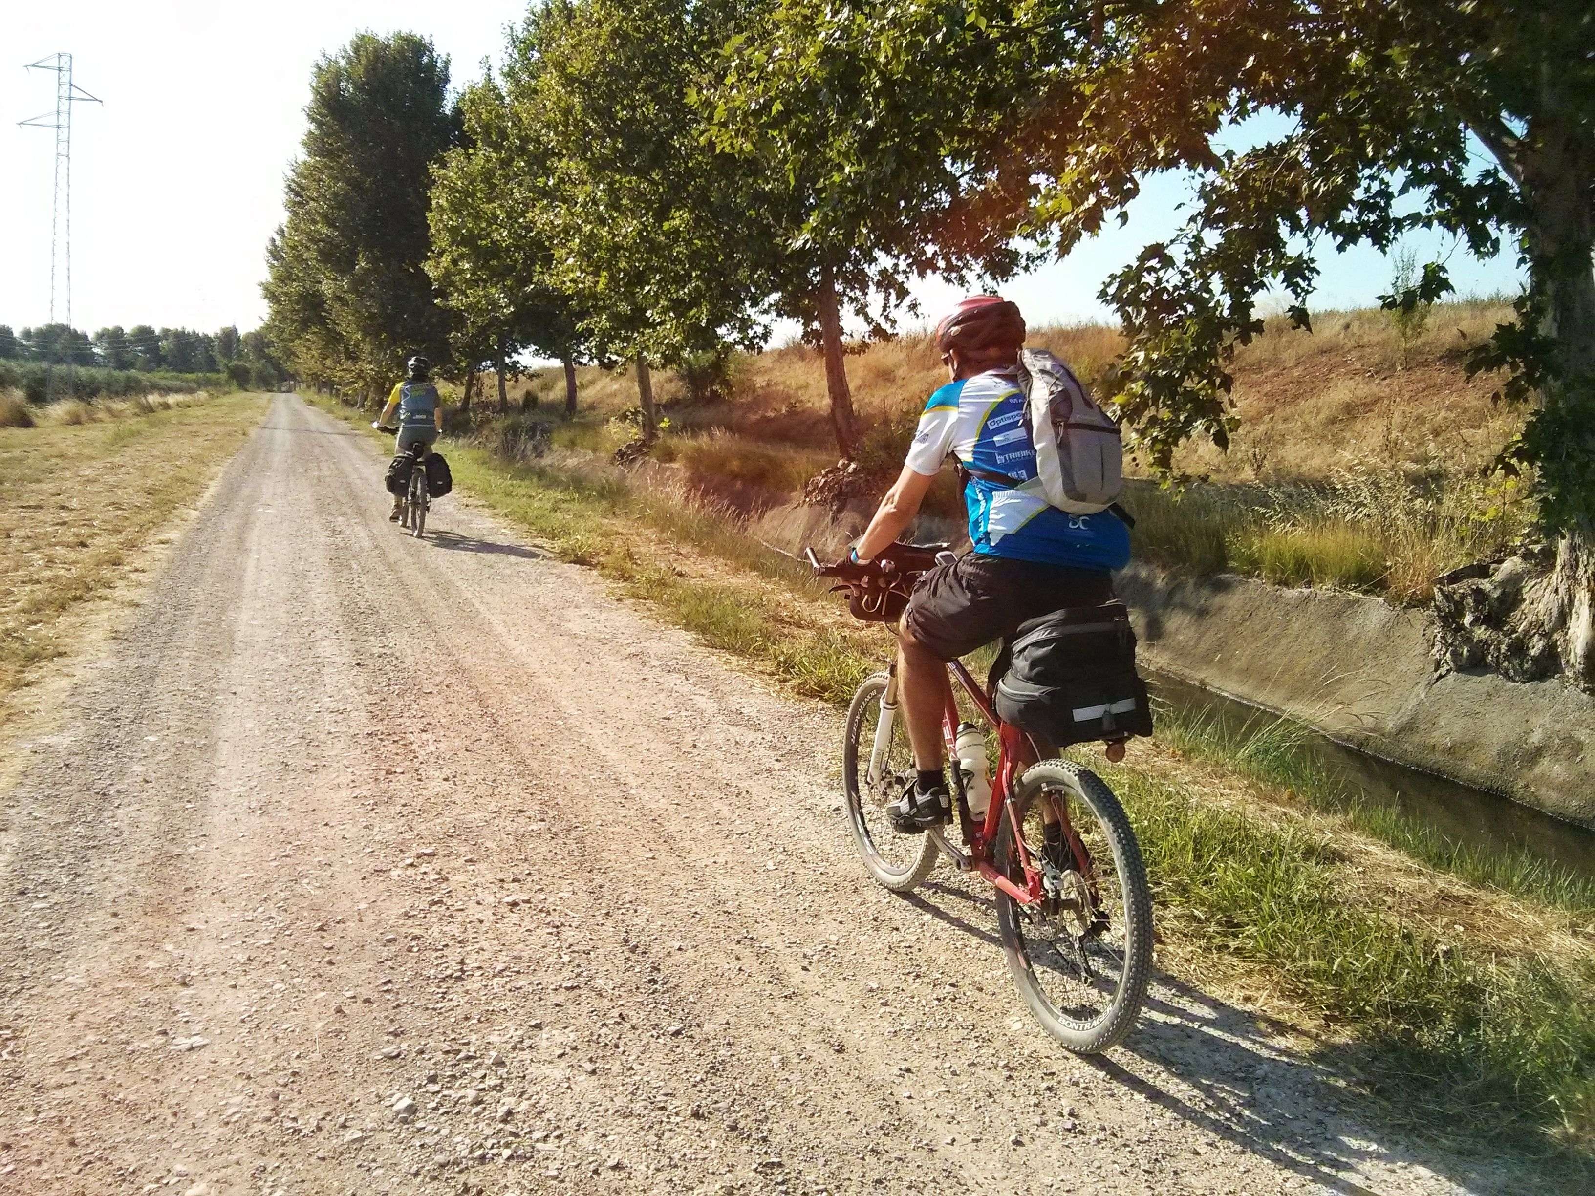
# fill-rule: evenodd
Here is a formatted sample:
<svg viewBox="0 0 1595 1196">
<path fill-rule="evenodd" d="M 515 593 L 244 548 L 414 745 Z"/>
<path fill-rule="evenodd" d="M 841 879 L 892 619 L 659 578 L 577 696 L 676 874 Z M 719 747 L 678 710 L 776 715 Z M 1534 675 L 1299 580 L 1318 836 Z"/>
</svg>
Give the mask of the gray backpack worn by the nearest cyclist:
<svg viewBox="0 0 1595 1196">
<path fill-rule="evenodd" d="M 1072 515 L 1112 507 L 1124 488 L 1124 445 L 1118 423 L 1046 349 L 1019 351 L 1019 389 L 1035 443 L 1034 482 L 1050 506 Z"/>
</svg>

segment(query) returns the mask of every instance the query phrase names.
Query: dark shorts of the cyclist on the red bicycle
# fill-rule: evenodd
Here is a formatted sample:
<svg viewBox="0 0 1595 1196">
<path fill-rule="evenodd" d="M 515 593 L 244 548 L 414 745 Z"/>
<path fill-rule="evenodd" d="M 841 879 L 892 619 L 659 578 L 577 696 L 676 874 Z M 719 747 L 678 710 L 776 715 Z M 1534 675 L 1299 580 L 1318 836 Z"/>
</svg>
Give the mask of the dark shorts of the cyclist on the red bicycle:
<svg viewBox="0 0 1595 1196">
<path fill-rule="evenodd" d="M 903 630 L 939 660 L 1013 635 L 1019 624 L 1065 606 L 1101 606 L 1113 598 L 1113 577 L 967 552 L 919 579 Z"/>
</svg>

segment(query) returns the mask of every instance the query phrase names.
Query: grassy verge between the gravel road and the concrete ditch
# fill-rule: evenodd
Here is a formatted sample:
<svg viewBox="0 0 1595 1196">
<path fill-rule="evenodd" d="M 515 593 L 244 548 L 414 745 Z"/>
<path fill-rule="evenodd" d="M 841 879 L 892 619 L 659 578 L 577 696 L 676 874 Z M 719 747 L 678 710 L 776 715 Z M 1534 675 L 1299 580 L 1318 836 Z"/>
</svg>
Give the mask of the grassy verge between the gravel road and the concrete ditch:
<svg viewBox="0 0 1595 1196">
<path fill-rule="evenodd" d="M 721 509 L 619 474 L 448 451 L 463 490 L 796 692 L 841 705 L 880 667 L 879 630 L 850 624 L 804 566 Z M 1595 1150 L 1589 890 L 1510 867 L 1431 871 L 1370 840 L 1376 820 L 1314 810 L 1282 772 L 1289 753 L 1258 749 L 1238 775 L 1228 764 L 1244 753 L 1195 726 L 1183 749 L 1144 745 L 1148 764 L 1105 769 L 1147 850 L 1164 962 L 1203 984 L 1246 973 L 1249 990 L 1327 1025 L 1324 1049 L 1428 1132 L 1549 1139 L 1582 1169 Z"/>
</svg>

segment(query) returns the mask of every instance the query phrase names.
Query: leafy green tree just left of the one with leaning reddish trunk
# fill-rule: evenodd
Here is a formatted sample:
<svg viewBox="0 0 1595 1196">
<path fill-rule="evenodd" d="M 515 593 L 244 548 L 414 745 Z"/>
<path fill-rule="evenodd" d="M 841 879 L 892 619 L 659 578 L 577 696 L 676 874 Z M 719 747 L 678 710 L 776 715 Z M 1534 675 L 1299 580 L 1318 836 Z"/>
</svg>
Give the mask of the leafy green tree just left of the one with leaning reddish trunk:
<svg viewBox="0 0 1595 1196">
<path fill-rule="evenodd" d="M 550 3 L 510 51 L 509 102 L 549 145 L 553 277 L 577 301 L 590 352 L 636 364 L 644 440 L 656 427 L 651 367 L 764 335 L 751 174 L 707 142 L 691 104 L 745 8 Z"/>
</svg>

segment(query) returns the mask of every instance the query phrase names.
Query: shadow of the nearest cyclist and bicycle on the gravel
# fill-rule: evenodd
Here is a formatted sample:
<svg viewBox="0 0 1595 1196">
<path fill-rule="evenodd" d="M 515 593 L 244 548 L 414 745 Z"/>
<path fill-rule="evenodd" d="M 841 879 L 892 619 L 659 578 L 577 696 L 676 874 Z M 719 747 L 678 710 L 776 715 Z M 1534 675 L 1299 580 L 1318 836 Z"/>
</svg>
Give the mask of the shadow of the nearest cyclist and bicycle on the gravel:
<svg viewBox="0 0 1595 1196">
<path fill-rule="evenodd" d="M 1002 946 L 986 893 L 930 882 L 908 901 L 983 944 Z M 1022 1008 L 1018 993 L 1014 1005 Z M 1046 1041 L 1040 1027 L 1035 1037 Z M 1461 1142 L 1439 1140 L 1443 1131 L 1392 1124 L 1388 1107 L 1348 1084 L 1354 1068 L 1345 1043 L 1316 1040 L 1156 968 L 1140 1021 L 1120 1048 L 1105 1056 L 1075 1056 L 1061 1045 L 1056 1051 L 1187 1124 L 1346 1196 L 1378 1196 L 1348 1178 L 1369 1169 L 1410 1167 L 1502 1196 L 1574 1191 L 1589 1175 L 1577 1161 L 1531 1155 L 1499 1137 L 1474 1155 Z"/>
</svg>

